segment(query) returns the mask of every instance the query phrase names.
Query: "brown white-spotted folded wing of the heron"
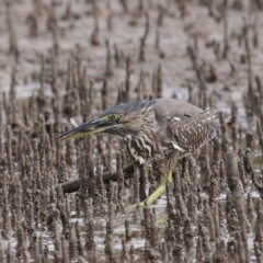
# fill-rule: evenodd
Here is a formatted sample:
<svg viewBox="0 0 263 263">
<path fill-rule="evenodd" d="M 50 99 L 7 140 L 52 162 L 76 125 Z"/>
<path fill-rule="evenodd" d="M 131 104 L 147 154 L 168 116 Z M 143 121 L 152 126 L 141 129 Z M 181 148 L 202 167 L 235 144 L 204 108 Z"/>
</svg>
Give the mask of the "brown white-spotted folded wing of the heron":
<svg viewBox="0 0 263 263">
<path fill-rule="evenodd" d="M 197 116 L 173 117 L 168 123 L 168 135 L 173 147 L 182 152 L 195 151 L 217 134 L 216 110 L 207 108 Z"/>
</svg>

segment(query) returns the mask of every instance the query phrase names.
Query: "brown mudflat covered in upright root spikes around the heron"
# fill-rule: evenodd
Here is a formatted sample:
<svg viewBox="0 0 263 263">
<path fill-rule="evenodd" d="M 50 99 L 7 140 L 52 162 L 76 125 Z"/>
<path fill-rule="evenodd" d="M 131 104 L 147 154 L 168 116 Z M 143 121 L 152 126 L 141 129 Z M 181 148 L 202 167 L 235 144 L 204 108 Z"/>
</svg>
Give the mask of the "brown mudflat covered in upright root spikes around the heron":
<svg viewBox="0 0 263 263">
<path fill-rule="evenodd" d="M 0 262 L 263 262 L 262 72 L 262 0 L 1 1 Z M 122 141 L 56 137 L 160 96 L 221 132 L 132 211 L 161 164 L 127 175 Z"/>
</svg>

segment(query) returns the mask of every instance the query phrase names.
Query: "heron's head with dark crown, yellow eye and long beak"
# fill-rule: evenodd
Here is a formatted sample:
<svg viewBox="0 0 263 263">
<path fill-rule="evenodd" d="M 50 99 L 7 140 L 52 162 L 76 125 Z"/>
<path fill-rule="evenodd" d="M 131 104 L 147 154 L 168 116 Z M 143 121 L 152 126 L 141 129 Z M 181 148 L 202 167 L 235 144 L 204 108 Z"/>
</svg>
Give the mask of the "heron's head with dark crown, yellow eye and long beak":
<svg viewBox="0 0 263 263">
<path fill-rule="evenodd" d="M 58 140 L 68 140 L 91 134 L 111 134 L 126 136 L 136 134 L 141 127 L 144 114 L 152 101 L 123 103 L 107 108 L 98 117 L 58 136 Z"/>
</svg>

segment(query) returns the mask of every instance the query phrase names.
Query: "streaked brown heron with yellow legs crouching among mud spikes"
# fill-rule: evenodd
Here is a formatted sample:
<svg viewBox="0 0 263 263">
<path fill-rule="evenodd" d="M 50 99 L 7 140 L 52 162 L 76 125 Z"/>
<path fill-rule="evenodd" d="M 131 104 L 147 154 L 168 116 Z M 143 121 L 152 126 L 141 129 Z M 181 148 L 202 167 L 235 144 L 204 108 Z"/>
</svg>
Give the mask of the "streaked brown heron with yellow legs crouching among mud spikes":
<svg viewBox="0 0 263 263">
<path fill-rule="evenodd" d="M 169 173 L 147 198 L 151 204 L 172 180 L 172 160 L 192 155 L 217 134 L 216 111 L 173 99 L 128 102 L 58 136 L 59 140 L 90 134 L 121 136 L 135 164 L 167 161 Z"/>
</svg>

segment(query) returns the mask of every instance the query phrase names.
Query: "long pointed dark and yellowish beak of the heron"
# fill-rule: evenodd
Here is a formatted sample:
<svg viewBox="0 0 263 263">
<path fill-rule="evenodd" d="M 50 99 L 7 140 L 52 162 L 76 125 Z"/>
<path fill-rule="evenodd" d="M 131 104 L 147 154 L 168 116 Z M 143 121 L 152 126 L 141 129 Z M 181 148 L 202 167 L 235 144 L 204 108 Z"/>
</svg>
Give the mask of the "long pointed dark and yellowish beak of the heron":
<svg viewBox="0 0 263 263">
<path fill-rule="evenodd" d="M 90 122 L 81 124 L 80 126 L 59 135 L 57 139 L 69 140 L 84 135 L 100 134 L 105 132 L 106 128 L 111 127 L 112 125 L 113 122 L 108 119 L 94 118 Z"/>
</svg>

